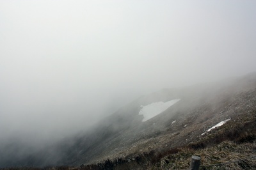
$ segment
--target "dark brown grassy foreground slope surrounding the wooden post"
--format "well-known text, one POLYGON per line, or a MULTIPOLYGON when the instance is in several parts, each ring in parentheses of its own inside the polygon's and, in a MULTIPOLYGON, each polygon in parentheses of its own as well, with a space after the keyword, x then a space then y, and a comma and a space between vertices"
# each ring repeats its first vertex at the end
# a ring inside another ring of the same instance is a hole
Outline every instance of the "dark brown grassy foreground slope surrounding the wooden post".
MULTIPOLYGON (((83 168, 61 166, 44 169, 188 169, 192 155, 200 155, 201 165, 205 166, 252 157, 255 153, 256 109, 253 109, 237 114, 232 121, 184 146, 140 153, 130 159, 105 160, 83 168)), ((8 168, 10 169, 38 168, 8 168)), ((256 169, 256 158, 200 169, 256 169)))

